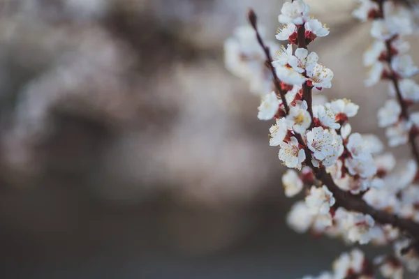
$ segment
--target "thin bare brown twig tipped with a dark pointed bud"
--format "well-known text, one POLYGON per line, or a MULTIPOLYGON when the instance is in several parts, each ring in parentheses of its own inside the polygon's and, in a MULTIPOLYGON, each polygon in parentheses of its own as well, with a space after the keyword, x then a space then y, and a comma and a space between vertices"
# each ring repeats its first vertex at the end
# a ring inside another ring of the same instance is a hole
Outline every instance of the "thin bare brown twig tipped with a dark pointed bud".
POLYGON ((281 82, 279 81, 279 78, 277 76, 277 72, 275 71, 274 66, 272 66, 272 56, 270 55, 270 49, 269 47, 265 45, 265 43, 263 43, 263 39, 260 36, 260 33, 258 31, 258 17, 256 17, 256 13, 254 12, 254 10, 252 9, 249 10, 249 12, 247 13, 247 18, 249 19, 251 26, 256 32, 256 38, 258 39, 259 45, 263 48, 263 52, 265 52, 266 63, 267 63, 268 68, 270 68, 271 70, 275 89, 277 91, 277 94, 279 93, 279 96, 281 96, 281 100, 284 105, 285 112, 288 114, 290 108, 288 107, 288 103, 286 103, 286 98, 285 98, 286 91, 281 89, 281 82))

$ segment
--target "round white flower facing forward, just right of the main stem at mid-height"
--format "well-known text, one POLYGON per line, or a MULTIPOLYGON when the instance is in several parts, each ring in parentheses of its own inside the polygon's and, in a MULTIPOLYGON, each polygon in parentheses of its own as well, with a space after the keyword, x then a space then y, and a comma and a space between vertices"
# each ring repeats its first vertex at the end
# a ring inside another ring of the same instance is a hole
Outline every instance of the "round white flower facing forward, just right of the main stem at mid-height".
POLYGON ((324 160, 326 156, 332 155, 336 147, 332 134, 321 127, 316 127, 307 133, 307 146, 318 160, 324 160))

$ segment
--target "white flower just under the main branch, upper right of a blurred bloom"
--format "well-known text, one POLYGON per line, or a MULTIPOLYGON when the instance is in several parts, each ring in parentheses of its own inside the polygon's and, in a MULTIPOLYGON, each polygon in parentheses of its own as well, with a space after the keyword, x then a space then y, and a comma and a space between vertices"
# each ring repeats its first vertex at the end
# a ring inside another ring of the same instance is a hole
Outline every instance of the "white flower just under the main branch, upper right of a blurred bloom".
POLYGON ((335 204, 336 200, 328 187, 323 185, 321 188, 311 186, 310 193, 306 197, 305 202, 311 214, 318 215, 329 213, 330 206, 335 204))

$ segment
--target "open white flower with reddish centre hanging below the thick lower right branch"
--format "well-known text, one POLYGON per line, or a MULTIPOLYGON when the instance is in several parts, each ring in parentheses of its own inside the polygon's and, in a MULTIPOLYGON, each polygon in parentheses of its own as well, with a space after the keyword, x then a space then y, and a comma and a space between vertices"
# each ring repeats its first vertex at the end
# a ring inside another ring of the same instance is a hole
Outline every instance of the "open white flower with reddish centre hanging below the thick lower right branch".
POLYGON ((367 244, 373 237, 374 231, 374 219, 369 215, 362 213, 350 212, 345 220, 346 236, 348 240, 357 242, 360 244, 367 244))

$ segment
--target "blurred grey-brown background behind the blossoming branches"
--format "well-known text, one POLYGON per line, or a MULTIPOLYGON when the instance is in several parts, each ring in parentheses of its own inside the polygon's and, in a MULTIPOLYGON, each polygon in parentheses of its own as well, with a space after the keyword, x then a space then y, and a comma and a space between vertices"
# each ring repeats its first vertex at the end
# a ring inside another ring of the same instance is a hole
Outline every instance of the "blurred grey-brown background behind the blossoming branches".
MULTIPOLYGON (((355 1, 307 0, 328 98, 378 133, 355 1)), ((1 278, 300 278, 348 250, 286 226, 284 167, 223 41, 278 0, 0 0, 1 278)), ((412 38, 417 40, 417 38, 412 38)), ((415 42, 413 42, 415 43, 415 42)), ((418 55, 414 57, 419 61, 418 55)), ((395 150, 406 156, 404 147, 395 150)), ((370 252, 376 253, 376 250, 370 252)))

